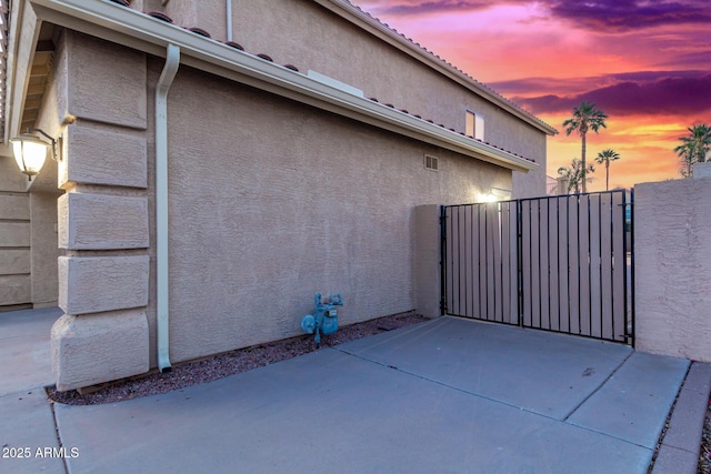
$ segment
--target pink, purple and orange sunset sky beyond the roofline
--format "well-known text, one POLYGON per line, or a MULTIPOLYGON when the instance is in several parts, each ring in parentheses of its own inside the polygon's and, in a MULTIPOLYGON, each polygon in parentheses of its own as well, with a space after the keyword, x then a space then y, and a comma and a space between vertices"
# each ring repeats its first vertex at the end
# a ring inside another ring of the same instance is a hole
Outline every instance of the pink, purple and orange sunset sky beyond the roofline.
POLYGON ((351 1, 558 129, 551 177, 580 158, 562 122, 583 100, 610 115, 587 153, 620 153, 610 189, 680 178, 679 137, 711 124, 709 0, 351 1))

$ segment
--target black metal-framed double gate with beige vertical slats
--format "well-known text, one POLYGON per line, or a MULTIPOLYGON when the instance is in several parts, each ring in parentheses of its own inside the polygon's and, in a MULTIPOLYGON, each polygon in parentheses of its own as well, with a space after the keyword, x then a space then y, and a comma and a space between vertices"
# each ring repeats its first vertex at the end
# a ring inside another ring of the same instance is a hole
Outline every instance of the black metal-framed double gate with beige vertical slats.
POLYGON ((631 215, 623 190, 442 206, 443 312, 633 343, 631 215))

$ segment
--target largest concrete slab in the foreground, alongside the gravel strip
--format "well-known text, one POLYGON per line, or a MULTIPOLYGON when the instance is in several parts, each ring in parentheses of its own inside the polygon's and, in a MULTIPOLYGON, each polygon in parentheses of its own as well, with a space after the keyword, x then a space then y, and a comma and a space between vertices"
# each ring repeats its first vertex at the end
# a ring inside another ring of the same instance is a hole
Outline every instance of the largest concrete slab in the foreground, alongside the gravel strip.
POLYGON ((607 474, 644 473, 651 458, 333 349, 166 395, 57 406, 57 420, 80 452, 67 460, 72 473, 607 474))

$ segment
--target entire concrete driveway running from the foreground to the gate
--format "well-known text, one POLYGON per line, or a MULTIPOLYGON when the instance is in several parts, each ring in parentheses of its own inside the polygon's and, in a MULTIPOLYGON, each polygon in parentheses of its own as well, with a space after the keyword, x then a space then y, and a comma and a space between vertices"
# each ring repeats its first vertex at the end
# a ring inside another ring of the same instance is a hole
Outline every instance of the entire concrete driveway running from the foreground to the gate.
POLYGON ((121 403, 4 393, 0 444, 33 455, 0 472, 645 473, 689 365, 441 317, 121 403))

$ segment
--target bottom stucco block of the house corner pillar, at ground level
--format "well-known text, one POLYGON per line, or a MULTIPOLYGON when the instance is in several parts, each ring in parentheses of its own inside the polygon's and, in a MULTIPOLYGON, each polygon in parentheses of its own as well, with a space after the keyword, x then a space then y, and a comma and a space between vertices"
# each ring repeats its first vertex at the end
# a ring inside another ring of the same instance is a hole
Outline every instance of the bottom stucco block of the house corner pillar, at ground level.
POLYGON ((57 389, 72 390, 149 370, 143 311, 74 316, 52 326, 52 371, 57 389))

